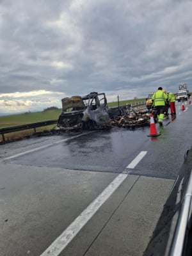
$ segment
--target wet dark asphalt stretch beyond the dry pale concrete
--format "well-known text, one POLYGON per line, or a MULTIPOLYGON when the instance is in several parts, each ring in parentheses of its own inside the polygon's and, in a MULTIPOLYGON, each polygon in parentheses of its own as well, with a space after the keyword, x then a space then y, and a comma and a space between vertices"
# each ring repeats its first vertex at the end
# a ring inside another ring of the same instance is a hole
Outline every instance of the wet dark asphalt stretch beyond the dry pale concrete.
POLYGON ((110 131, 84 134, 72 140, 69 138, 44 150, 17 157, 9 163, 70 170, 128 172, 175 179, 184 154, 192 143, 191 120, 188 112, 179 109, 180 106, 181 102, 177 104, 176 118, 169 115, 163 127, 156 124, 157 132, 161 134, 157 138, 147 136, 150 134, 149 127, 134 130, 114 127, 110 131), (132 159, 143 150, 147 151, 143 161, 134 170, 126 170, 132 159))

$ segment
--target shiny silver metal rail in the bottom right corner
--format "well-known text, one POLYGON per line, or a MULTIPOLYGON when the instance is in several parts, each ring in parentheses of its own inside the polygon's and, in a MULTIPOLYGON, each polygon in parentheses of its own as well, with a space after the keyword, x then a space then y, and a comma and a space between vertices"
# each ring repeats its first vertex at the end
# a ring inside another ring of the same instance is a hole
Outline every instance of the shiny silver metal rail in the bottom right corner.
POLYGON ((179 221, 175 231, 175 236, 173 240, 173 246, 170 256, 182 256, 184 251, 184 242, 186 238, 186 231, 191 227, 191 214, 192 214, 192 170, 189 177, 188 187, 184 195, 182 202, 181 211, 179 214, 179 221))

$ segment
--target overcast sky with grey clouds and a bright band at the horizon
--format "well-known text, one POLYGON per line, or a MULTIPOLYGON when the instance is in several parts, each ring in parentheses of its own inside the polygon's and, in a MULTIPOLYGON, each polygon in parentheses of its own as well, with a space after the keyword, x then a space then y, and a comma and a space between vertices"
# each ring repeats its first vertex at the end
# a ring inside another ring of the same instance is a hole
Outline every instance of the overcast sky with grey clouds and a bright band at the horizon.
POLYGON ((192 1, 0 0, 0 113, 192 91, 192 1))

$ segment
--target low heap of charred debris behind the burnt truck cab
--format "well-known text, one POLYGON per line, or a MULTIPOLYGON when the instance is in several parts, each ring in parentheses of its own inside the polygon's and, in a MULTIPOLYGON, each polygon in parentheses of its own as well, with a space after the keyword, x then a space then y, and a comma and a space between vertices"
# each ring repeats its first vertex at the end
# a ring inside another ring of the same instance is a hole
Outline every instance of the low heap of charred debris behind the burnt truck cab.
POLYGON ((150 125, 150 114, 147 112, 131 111, 122 116, 111 117, 111 126, 136 128, 150 125))

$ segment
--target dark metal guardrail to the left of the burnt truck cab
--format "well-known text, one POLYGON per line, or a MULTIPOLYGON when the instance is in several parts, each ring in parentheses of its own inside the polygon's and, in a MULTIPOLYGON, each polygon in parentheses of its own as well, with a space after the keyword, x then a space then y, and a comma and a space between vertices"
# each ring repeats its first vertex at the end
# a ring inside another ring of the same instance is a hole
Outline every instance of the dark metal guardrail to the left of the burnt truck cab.
POLYGON ((57 124, 58 120, 48 120, 48 121, 43 121, 43 122, 36 122, 32 124, 22 124, 22 125, 17 125, 17 126, 11 126, 11 127, 4 127, 0 129, 0 134, 3 138, 3 142, 5 141, 4 134, 10 133, 10 132, 18 132, 18 131, 24 131, 28 129, 34 129, 36 132, 36 128, 42 127, 42 126, 47 126, 47 125, 52 125, 52 124, 57 124))

